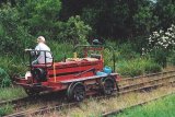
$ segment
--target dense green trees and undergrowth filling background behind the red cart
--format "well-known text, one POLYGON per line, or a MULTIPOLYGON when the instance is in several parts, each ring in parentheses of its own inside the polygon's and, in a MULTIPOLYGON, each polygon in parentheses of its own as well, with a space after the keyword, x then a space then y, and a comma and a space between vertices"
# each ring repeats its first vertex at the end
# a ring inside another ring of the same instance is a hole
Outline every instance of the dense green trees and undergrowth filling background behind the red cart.
MULTIPOLYGON (((158 72, 160 66, 166 66, 171 51, 142 57, 142 49, 153 31, 166 31, 174 23, 174 8, 172 0, 0 1, 0 68, 10 77, 25 73, 23 50, 34 48, 43 35, 57 61, 65 55, 72 57, 77 44, 98 38, 115 48, 119 73, 133 77, 158 72)), ((112 52, 104 52, 105 65, 113 66, 112 52)))

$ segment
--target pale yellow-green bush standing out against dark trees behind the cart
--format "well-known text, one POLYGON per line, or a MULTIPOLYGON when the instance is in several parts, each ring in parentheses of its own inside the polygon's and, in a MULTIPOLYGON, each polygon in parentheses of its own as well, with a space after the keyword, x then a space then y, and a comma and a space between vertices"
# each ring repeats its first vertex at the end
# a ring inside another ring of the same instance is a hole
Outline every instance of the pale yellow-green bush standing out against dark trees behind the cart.
POLYGON ((81 21, 80 16, 71 16, 67 23, 63 24, 62 32, 59 33, 57 38, 62 42, 71 42, 75 44, 86 44, 88 36, 92 28, 81 21), (65 38, 67 38, 65 40, 65 38))

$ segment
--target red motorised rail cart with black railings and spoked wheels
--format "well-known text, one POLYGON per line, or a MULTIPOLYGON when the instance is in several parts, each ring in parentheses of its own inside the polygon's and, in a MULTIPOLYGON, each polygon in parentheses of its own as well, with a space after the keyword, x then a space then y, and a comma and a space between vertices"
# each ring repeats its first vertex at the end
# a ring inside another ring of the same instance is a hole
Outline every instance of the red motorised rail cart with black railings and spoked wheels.
MULTIPOLYGON (((103 93, 113 94, 118 90, 118 73, 114 69, 104 67, 103 50, 106 46, 91 45, 77 46, 82 48, 83 57, 68 58, 60 62, 32 65, 32 58, 36 50, 27 50, 30 57, 28 75, 15 78, 15 83, 24 87, 28 95, 35 95, 44 91, 66 91, 69 100, 82 101, 85 95, 103 93)), ((113 49, 113 48, 110 48, 113 49)), ((37 51, 48 52, 48 51, 37 51)), ((52 57, 54 59, 54 57, 52 57)), ((45 59, 46 60, 46 59, 45 59)))

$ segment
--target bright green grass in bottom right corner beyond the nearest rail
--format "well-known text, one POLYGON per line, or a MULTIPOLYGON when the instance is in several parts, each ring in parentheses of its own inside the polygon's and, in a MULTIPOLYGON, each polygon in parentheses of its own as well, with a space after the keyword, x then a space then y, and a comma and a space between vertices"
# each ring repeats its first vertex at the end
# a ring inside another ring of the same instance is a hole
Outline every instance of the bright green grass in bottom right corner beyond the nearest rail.
POLYGON ((165 98, 151 102, 144 106, 127 109, 114 117, 174 117, 175 94, 165 98))

